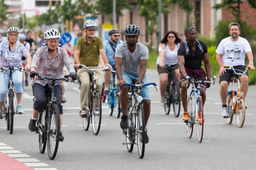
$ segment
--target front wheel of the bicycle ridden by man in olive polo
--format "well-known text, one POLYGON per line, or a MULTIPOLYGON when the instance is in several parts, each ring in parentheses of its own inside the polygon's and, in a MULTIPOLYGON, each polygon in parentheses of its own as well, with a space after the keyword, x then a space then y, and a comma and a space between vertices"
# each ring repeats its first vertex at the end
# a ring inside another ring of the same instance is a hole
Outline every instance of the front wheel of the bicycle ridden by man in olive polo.
POLYGON ((95 135, 100 131, 101 123, 101 99, 100 93, 97 91, 93 97, 92 105, 92 130, 95 135))

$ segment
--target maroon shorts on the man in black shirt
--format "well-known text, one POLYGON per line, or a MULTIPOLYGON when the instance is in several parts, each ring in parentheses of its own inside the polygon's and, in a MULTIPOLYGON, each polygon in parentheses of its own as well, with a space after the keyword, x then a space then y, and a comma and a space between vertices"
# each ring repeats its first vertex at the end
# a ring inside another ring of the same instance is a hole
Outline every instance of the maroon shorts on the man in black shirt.
MULTIPOLYGON (((205 72, 202 68, 200 68, 200 69, 185 68, 185 70, 186 70, 186 73, 188 74, 188 76, 190 76, 190 77, 197 78, 197 79, 200 79, 200 80, 206 80, 205 79, 206 74, 205 74, 205 72)), ((184 76, 182 74, 181 74, 180 78, 181 78, 180 82, 185 81, 184 76)), ((196 86, 196 84, 195 84, 195 86, 196 86)), ((200 84, 200 86, 202 86, 206 89, 206 83, 202 83, 202 84, 200 84)))

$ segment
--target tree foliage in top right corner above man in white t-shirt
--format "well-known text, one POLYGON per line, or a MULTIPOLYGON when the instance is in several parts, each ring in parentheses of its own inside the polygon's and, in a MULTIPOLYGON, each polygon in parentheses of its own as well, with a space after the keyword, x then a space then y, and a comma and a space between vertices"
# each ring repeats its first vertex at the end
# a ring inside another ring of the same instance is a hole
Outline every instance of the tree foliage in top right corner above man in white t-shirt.
MULTIPOLYGON (((247 0, 249 5, 252 8, 256 8, 256 1, 255 0, 247 0)), ((213 6, 215 9, 227 9, 229 10, 232 15, 235 17, 238 23, 241 22, 241 13, 240 7, 243 4, 242 0, 223 0, 220 4, 216 4, 213 6)))

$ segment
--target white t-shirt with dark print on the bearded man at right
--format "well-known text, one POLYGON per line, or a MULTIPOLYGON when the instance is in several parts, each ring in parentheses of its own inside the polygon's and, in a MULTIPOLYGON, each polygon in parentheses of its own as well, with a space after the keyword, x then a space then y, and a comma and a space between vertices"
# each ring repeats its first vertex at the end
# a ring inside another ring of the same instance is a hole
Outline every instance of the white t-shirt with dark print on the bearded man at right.
POLYGON ((223 65, 245 66, 245 53, 252 51, 249 42, 242 37, 237 41, 231 41, 230 37, 221 40, 216 53, 222 54, 223 65))

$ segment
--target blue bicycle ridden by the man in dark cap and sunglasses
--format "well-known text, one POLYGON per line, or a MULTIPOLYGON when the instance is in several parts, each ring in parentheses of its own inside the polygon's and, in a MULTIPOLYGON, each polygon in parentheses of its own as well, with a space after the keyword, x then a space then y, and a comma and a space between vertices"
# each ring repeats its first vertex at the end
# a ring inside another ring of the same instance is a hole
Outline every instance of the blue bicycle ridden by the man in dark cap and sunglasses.
POLYGON ((120 117, 121 113, 121 107, 120 107, 120 96, 118 95, 118 85, 117 85, 117 75, 116 71, 112 71, 112 78, 109 83, 109 93, 107 95, 107 103, 108 103, 108 109, 109 109, 109 115, 112 116, 113 111, 115 112, 115 115, 117 118, 120 117))

